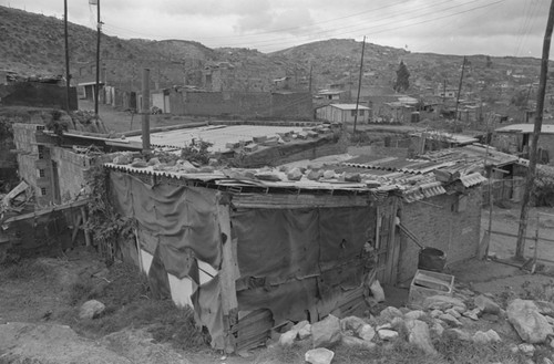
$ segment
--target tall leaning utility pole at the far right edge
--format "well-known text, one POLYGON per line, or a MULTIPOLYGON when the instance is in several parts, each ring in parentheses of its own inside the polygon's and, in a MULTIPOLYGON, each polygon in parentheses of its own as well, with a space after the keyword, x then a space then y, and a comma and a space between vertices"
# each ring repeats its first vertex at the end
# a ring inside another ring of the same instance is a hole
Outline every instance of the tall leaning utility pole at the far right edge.
POLYGON ((543 56, 541 60, 541 76, 538 80, 538 91, 536 92, 536 116, 535 127, 533 128, 533 139, 530 146, 529 171, 525 176, 525 190, 523 193, 521 215, 520 215, 520 229, 517 231, 517 242, 515 246, 515 259, 523 260, 525 251, 525 236, 527 233, 527 215, 529 215, 529 200, 531 199, 531 190, 536 173, 536 152, 538 144, 538 136, 543 125, 543 108, 544 96, 546 93, 546 79, 548 74, 548 58, 551 52, 552 29, 554 28, 554 0, 551 1, 551 9, 548 12, 548 20, 546 22, 546 31, 544 33, 543 42, 543 56))

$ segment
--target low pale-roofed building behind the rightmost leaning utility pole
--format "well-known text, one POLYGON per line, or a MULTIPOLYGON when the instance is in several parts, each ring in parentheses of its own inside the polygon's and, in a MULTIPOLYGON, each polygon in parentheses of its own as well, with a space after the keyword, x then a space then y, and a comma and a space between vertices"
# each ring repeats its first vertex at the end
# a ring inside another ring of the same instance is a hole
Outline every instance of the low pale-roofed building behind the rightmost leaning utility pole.
MULTIPOLYGON (((513 124, 495 131, 493 144, 499 149, 529 158, 533 124, 513 124)), ((544 124, 538 137, 538 163, 554 165, 554 125, 544 124)))

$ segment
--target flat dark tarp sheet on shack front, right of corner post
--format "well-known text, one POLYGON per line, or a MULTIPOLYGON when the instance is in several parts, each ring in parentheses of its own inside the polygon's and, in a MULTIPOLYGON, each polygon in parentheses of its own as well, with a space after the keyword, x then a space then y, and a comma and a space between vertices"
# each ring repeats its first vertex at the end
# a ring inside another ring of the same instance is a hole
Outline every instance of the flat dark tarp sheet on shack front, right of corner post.
POLYGON ((232 216, 238 309, 269 309, 276 324, 318 320, 359 287, 375 240, 375 207, 245 209, 232 216))

